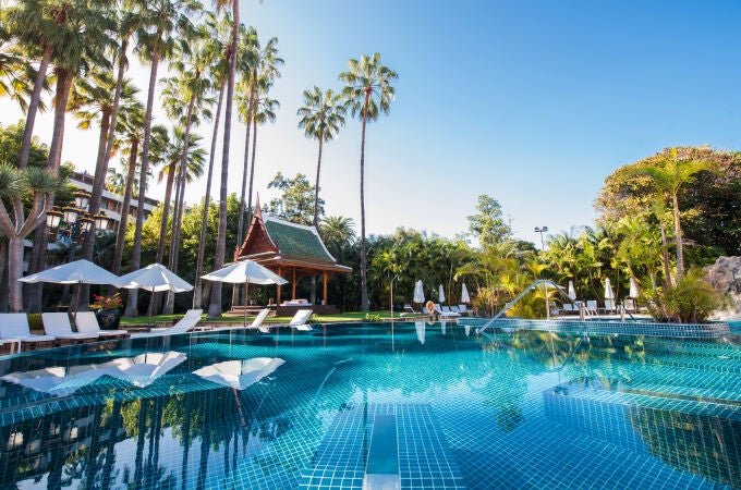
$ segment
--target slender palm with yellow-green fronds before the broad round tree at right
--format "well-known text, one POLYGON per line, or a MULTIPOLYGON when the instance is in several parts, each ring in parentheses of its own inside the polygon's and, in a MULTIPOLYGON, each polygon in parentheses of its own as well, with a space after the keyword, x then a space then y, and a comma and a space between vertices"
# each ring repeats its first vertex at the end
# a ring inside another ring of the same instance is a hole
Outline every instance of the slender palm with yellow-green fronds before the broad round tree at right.
POLYGON ((697 173, 714 171, 709 160, 680 159, 677 148, 671 148, 669 156, 658 156, 648 167, 639 168, 631 173, 647 176, 658 195, 671 198, 675 215, 675 240, 677 241, 677 283, 682 280, 684 269, 684 252, 682 244, 682 224, 679 211, 679 191, 684 184, 695 181, 697 173))

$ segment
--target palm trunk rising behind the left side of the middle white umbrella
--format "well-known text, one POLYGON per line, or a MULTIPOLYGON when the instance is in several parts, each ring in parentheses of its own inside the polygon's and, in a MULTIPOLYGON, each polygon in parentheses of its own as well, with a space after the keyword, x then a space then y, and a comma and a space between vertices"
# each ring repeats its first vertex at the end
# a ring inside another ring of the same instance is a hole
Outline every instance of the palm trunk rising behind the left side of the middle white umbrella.
MULTIPOLYGON (((142 145, 142 170, 139 172, 138 210, 136 212, 136 231, 134 232, 134 249, 131 254, 131 270, 139 268, 142 262, 142 228, 144 226, 144 205, 147 189, 147 171, 149 170, 149 145, 151 143, 151 110, 155 103, 155 86, 157 85, 157 68, 159 65, 159 52, 155 51, 151 57, 151 71, 149 73, 149 93, 147 94, 147 112, 144 120, 144 143, 142 145)), ((129 291, 129 301, 124 316, 133 317, 138 314, 137 291, 129 291)))

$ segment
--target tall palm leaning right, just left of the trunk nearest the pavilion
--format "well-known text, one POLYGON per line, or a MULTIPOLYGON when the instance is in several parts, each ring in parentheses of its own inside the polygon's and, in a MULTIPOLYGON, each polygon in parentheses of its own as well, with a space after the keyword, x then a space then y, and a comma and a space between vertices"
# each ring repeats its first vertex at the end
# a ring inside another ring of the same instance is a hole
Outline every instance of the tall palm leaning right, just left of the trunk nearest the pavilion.
POLYGON ((201 235, 198 238, 198 253, 195 266, 195 287, 193 290, 193 307, 203 308, 203 281, 201 275, 204 271, 204 250, 206 248, 206 234, 208 232, 208 209, 211 203, 211 180, 214 175, 214 159, 216 157, 216 143, 219 134, 219 120, 221 117, 221 105, 223 101, 223 91, 227 85, 229 60, 232 51, 232 36, 231 36, 231 16, 226 13, 223 17, 218 19, 215 14, 209 13, 206 25, 210 32, 210 49, 216 54, 214 63, 209 69, 209 75, 215 86, 219 87, 218 102, 216 106, 216 117, 214 118, 214 134, 211 135, 211 148, 208 157, 208 175, 206 177, 206 195, 204 196, 204 206, 201 216, 201 235))

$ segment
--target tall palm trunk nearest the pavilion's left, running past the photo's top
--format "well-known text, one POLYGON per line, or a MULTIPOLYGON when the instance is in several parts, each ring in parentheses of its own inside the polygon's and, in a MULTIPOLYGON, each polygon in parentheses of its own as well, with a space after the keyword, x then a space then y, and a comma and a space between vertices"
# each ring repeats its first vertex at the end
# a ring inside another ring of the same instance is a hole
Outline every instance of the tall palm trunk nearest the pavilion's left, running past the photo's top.
MULTIPOLYGON (((239 46, 239 25, 240 25, 240 2, 232 2, 233 25, 232 25, 232 52, 229 58, 229 77, 227 81, 227 108, 224 110, 223 126, 223 151, 221 154, 221 188, 219 192, 219 233, 216 240, 216 253, 214 257, 214 268, 220 269, 223 266, 224 254, 227 252, 227 185, 229 184, 229 143, 231 136, 231 112, 234 101, 234 74, 236 72, 236 48, 239 46)), ((221 316, 221 283, 216 282, 211 287, 211 298, 208 305, 208 316, 221 316)))

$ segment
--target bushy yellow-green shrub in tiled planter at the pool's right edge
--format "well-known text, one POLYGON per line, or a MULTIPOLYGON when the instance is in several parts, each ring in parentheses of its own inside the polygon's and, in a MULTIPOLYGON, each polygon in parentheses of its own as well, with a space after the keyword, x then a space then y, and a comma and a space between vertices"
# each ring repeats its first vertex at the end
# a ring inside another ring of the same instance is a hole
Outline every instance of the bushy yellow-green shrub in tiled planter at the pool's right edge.
POLYGON ((692 269, 679 284, 644 290, 646 297, 642 303, 656 321, 703 323, 722 298, 701 274, 700 269, 692 269))

